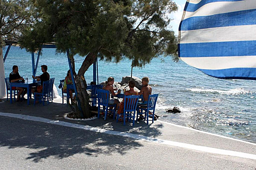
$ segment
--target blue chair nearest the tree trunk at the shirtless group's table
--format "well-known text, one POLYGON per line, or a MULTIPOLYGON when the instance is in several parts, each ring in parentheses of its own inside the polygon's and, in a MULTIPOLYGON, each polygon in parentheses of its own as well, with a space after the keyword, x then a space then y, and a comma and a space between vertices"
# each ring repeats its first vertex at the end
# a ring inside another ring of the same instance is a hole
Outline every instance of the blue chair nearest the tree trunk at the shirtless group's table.
POLYGON ((103 89, 97 89, 97 99, 98 99, 98 119, 99 119, 99 113, 104 112, 105 113, 104 120, 106 120, 108 111, 113 112, 113 119, 115 119, 116 104, 108 104, 109 92, 103 89), (113 107, 113 108, 110 109, 110 107, 113 107))

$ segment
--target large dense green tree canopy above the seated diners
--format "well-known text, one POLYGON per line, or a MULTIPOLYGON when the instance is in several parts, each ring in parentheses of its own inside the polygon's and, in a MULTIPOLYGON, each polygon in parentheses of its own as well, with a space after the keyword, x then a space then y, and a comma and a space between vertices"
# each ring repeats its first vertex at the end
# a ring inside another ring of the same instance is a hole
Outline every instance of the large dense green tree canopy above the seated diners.
POLYGON ((57 51, 119 62, 134 59, 143 67, 154 57, 175 54, 177 38, 168 30, 167 14, 177 10, 171 0, 33 0, 40 14, 23 29, 22 48, 35 51, 56 42, 57 51))

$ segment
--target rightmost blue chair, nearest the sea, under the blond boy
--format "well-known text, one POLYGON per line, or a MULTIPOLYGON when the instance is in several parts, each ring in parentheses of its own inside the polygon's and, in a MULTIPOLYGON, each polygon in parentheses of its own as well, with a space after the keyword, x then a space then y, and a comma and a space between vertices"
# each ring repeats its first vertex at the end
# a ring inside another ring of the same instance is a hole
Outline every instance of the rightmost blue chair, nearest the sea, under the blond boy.
POLYGON ((155 111, 155 107, 157 104, 157 97, 158 97, 158 94, 151 94, 148 96, 148 104, 147 105, 138 105, 136 120, 138 120, 139 115, 145 114, 144 120, 147 119, 147 124, 148 124, 148 112, 152 111, 153 112, 152 123, 154 123, 154 111, 155 111))

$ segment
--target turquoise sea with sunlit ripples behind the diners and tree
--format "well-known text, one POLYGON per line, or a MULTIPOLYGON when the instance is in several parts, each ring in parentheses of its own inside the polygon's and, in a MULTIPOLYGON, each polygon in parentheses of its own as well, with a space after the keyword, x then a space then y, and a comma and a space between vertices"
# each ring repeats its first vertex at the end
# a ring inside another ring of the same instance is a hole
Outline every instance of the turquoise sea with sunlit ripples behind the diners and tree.
MULTIPOLYGON (((56 54, 55 49, 49 48, 42 53, 37 75, 41 74, 40 65, 47 65, 58 87, 59 80, 64 79, 69 69, 67 55, 56 54)), ((256 143, 256 81, 216 79, 182 61, 173 62, 171 57, 162 59, 165 61, 153 59, 142 69, 133 68, 133 76, 148 76, 153 93, 159 94, 156 113, 160 120, 256 143), (180 108, 181 113, 166 112, 174 106, 180 108)), ((76 56, 75 60, 78 70, 83 57, 76 56)), ((10 49, 4 63, 6 77, 12 65, 19 66, 21 76, 28 73, 29 78, 32 77, 31 54, 26 50, 10 49)), ((98 68, 99 82, 110 76, 120 82, 123 76, 131 75, 131 61, 127 59, 117 64, 99 61, 98 68)), ((92 74, 91 66, 85 73, 87 82, 92 81, 92 74)))

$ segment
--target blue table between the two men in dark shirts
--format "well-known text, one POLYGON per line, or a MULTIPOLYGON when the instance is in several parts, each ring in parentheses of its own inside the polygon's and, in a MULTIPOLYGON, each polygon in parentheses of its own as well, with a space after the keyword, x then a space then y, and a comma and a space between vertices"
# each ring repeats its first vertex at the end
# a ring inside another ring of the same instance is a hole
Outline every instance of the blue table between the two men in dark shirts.
MULTIPOLYGON (((20 87, 20 88, 27 88, 27 104, 29 105, 29 98, 31 99, 31 87, 33 86, 38 86, 38 85, 41 85, 41 81, 39 82, 32 82, 32 81, 29 81, 29 82, 10 82, 10 89, 12 89, 12 87, 20 87)), ((10 94, 10 102, 12 103, 12 90, 10 91, 11 94, 10 94)))

